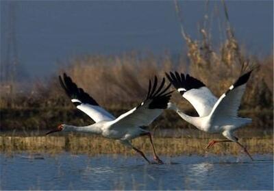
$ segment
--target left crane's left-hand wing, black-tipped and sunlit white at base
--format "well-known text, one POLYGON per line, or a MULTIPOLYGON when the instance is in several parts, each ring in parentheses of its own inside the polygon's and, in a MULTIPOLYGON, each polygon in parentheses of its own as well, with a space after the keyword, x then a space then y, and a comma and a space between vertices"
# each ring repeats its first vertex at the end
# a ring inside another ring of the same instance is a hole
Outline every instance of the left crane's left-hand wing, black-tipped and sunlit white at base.
POLYGON ((64 88, 66 94, 71 98, 73 104, 77 109, 86 113, 92 120, 99 122, 101 120, 114 120, 114 116, 100 107, 99 104, 90 97, 89 94, 84 92, 82 88, 78 88, 77 85, 71 80, 71 77, 66 73, 62 77, 59 76, 60 84, 64 88))

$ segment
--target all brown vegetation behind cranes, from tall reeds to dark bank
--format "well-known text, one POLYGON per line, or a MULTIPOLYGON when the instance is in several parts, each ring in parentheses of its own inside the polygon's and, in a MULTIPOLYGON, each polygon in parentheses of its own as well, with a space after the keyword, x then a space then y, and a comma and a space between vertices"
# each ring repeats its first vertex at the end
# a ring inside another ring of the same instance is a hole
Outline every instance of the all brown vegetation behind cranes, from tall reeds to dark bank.
MULTIPOLYGON (((176 4, 177 13, 180 13, 179 4, 176 4)), ((16 94, 11 102, 9 94, 1 94, 0 127, 28 128, 36 126, 47 128, 56 125, 57 118, 60 122, 69 122, 69 116, 83 116, 75 112, 75 107, 66 97, 60 87, 58 75, 68 73, 73 80, 97 102, 116 116, 131 109, 144 99, 147 92, 148 81, 154 75, 164 77, 165 72, 179 71, 190 73, 201 79, 217 97, 239 77, 240 73, 255 68, 251 79, 247 84, 247 90, 242 99, 240 109, 247 112, 252 111, 251 116, 256 114, 268 114, 266 120, 257 121, 264 125, 272 124, 273 118, 273 55, 262 60, 247 57, 242 53, 240 44, 235 37, 234 31, 229 23, 227 9, 225 12, 226 34, 219 47, 214 47, 211 42, 210 25, 208 24, 208 13, 199 32, 200 40, 194 40, 184 31, 181 20, 182 34, 188 47, 186 55, 178 55, 177 58, 165 53, 153 55, 152 53, 129 52, 121 55, 86 55, 70 60, 66 64, 60 64, 58 74, 52 75, 45 81, 36 81, 31 92, 27 94, 16 94), (186 62, 186 60, 189 62, 186 62), (12 105, 12 108, 10 108, 12 105), (61 108, 61 109, 60 109, 61 108), (73 111, 72 111, 73 110, 73 111), (265 112, 266 111, 266 112, 265 112), (49 120, 46 119, 49 118, 49 120), (24 118, 25 117, 25 118, 24 118)), ((187 112, 195 114, 192 106, 182 97, 174 92, 172 101, 187 112)), ((75 121, 74 125, 82 125, 91 122, 88 118, 75 121)), ((171 120, 171 118, 165 118, 171 120)), ((266 125, 269 127, 269 125, 266 125)))

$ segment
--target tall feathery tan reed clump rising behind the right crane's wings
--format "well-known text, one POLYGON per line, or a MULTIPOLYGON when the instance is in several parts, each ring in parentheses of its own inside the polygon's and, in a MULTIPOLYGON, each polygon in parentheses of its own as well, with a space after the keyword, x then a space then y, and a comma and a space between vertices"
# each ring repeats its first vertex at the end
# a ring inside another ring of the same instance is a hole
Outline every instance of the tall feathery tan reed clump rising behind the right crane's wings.
MULTIPOLYGON (((236 81, 236 79, 254 70, 249 80, 242 105, 249 109, 273 108, 273 55, 264 60, 258 60, 254 56, 248 57, 241 49, 232 24, 229 22, 229 14, 225 1, 223 2, 223 14, 225 27, 220 28, 219 33, 225 34, 219 45, 212 42, 212 28, 208 18, 208 12, 203 17, 203 25, 199 26, 201 38, 193 39, 187 34, 180 4, 184 2, 175 1, 175 10, 179 17, 182 38, 188 47, 188 58, 190 60, 190 73, 201 79, 216 95, 221 95, 236 81)), ((207 1, 208 4, 214 3, 207 1)), ((219 9, 221 9, 219 8, 219 9)), ((211 14, 214 14, 212 12, 211 14)), ((214 15, 216 16, 216 15, 214 15)))

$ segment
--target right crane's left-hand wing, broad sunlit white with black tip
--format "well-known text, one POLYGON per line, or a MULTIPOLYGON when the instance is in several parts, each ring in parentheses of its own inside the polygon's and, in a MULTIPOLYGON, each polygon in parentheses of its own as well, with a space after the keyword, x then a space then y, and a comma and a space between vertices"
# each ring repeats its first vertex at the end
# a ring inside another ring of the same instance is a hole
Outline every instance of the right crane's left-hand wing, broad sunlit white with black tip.
POLYGON ((212 111, 217 98, 199 79, 195 79, 190 75, 184 75, 175 72, 167 74, 166 77, 171 84, 182 94, 182 96, 191 103, 199 116, 208 116, 212 111))

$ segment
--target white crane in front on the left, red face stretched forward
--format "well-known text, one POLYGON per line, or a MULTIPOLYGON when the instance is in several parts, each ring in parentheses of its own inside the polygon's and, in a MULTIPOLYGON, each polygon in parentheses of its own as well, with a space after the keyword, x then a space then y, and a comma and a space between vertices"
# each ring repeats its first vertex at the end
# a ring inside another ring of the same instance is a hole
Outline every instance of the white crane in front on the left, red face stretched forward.
POLYGON ((73 125, 62 124, 59 125, 57 129, 49 131, 47 134, 57 131, 75 131, 98 134, 105 138, 117 140, 125 146, 134 149, 137 153, 140 153, 147 162, 149 162, 149 160, 145 154, 134 147, 130 140, 140 136, 149 136, 153 149, 153 159, 158 162, 158 164, 163 164, 162 160, 160 160, 158 155, 155 153, 151 133, 142 129, 142 127, 152 123, 152 121, 155 120, 164 109, 166 109, 167 103, 169 103, 171 92, 166 91, 169 89, 171 84, 164 88, 165 78, 162 79, 158 88, 158 78, 156 76, 153 85, 151 84, 151 80, 149 80, 149 91, 145 101, 118 118, 115 118, 112 114, 104 110, 103 107, 100 107, 95 99, 92 99, 92 97, 84 92, 82 88, 78 88, 71 80, 71 77, 64 73, 63 80, 62 77, 59 78, 62 88, 64 88, 66 94, 71 98, 71 101, 77 109, 90 116, 95 123, 85 127, 75 127, 73 125))

